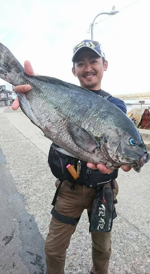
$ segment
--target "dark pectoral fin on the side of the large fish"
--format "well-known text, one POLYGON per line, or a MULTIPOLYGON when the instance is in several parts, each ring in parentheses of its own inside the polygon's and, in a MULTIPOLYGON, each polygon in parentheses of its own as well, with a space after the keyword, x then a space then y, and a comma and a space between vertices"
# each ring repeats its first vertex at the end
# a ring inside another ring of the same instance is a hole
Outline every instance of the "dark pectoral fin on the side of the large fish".
POLYGON ((86 152, 92 153, 96 148, 100 147, 97 140, 81 126, 68 122, 67 129, 75 144, 86 152))

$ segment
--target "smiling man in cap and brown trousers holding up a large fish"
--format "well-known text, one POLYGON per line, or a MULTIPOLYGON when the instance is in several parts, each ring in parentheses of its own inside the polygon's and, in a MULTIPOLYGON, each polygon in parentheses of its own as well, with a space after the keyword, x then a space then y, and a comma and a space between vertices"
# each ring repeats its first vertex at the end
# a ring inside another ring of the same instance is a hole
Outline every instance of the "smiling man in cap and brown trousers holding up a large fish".
MULTIPOLYGON (((98 41, 84 40, 76 45, 73 49, 72 62, 72 72, 74 76, 78 77, 82 87, 99 96, 103 96, 126 113, 126 106, 123 101, 114 98, 111 94, 101 89, 101 80, 104 71, 107 70, 108 62, 105 60, 105 55, 98 41)), ((24 63, 24 67, 26 74, 34 74, 28 61, 24 63)), ((23 93, 30 89, 29 85, 16 86, 14 88, 16 92, 23 93)), ((12 108, 16 110, 18 106, 19 102, 16 98, 12 108)), ((55 144, 53 145, 55 146, 55 144)), ((55 176, 59 180, 55 183, 57 193, 52 203, 55 207, 51 211, 52 218, 49 225, 49 234, 45 242, 46 274, 64 274, 66 249, 84 209, 87 209, 88 212, 92 238, 93 266, 90 273, 107 274, 111 256, 110 231, 112 220, 107 216, 106 210, 112 210, 113 218, 116 217, 114 205, 117 203, 118 184, 115 178, 118 175, 118 170, 109 169, 102 164, 95 166, 92 163, 85 163, 80 161, 80 159, 71 157, 69 158, 70 162, 67 162, 67 156, 59 153, 59 158, 56 157, 55 150, 52 148, 49 152, 49 159, 51 170, 52 172, 55 170, 55 176), (51 165, 52 162, 53 165, 51 165), (72 176, 70 177, 66 169, 66 163, 69 164, 71 162, 75 168, 74 172, 78 175, 76 181, 74 181, 72 176), (87 166, 89 167, 88 169, 87 166), (60 175, 61 169, 64 171, 62 172, 62 178, 60 175), (105 190, 107 190, 106 196, 105 190), (100 200, 97 200, 97 205, 94 204, 94 207, 92 207, 95 197, 100 200), (98 223, 95 221, 94 212, 96 211, 93 211, 93 208, 98 212, 97 216, 100 216, 98 223), (105 228, 106 223, 108 223, 107 228, 105 228)), ((121 168, 124 171, 131 169, 126 165, 122 165, 121 168)))

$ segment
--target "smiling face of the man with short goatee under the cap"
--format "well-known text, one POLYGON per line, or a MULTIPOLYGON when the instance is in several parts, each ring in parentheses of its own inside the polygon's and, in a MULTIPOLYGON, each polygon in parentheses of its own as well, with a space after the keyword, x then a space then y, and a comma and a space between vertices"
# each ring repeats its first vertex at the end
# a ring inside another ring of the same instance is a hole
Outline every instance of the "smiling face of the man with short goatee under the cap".
POLYGON ((80 53, 72 68, 74 76, 77 76, 80 85, 87 89, 99 90, 103 72, 107 70, 107 61, 103 64, 102 57, 94 51, 84 51, 80 53))

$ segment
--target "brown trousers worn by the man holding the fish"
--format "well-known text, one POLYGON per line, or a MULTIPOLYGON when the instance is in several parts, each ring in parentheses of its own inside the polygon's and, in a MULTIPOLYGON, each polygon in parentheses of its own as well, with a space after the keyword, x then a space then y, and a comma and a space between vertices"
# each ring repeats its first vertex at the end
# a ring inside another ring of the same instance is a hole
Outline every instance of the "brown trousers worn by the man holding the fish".
MULTIPOLYGON (((58 187, 60 181, 56 181, 58 187)), ((111 183, 105 186, 110 186, 111 183)), ((114 180, 114 200, 118 194, 118 184, 114 180)), ((74 224, 63 223, 54 216, 49 225, 49 234, 45 242, 45 254, 47 271, 46 274, 64 274, 66 249, 84 209, 91 211, 92 201, 95 197, 95 189, 87 188, 85 185, 75 184, 74 191, 70 190, 70 182, 62 182, 59 195, 56 200, 55 210, 61 216, 68 217, 68 221, 74 224)), ((53 211, 53 210, 52 210, 53 211)), ((53 211, 53 215, 56 213, 53 211)), ((92 239, 92 260, 91 274, 107 274, 109 258, 111 256, 111 232, 91 232, 92 239)))

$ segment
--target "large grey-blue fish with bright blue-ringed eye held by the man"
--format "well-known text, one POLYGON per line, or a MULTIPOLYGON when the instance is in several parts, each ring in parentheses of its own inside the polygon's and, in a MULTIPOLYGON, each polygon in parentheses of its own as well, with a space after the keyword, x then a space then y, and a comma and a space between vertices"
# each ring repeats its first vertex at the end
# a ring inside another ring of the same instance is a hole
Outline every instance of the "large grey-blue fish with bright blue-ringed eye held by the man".
POLYGON ((30 84, 18 93, 20 108, 60 152, 108 168, 127 164, 137 172, 150 159, 134 123, 114 104, 85 88, 47 76, 28 76, 0 43, 0 78, 30 84))

